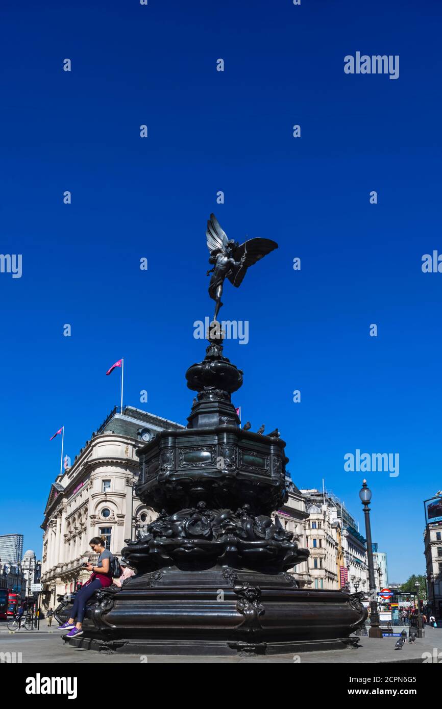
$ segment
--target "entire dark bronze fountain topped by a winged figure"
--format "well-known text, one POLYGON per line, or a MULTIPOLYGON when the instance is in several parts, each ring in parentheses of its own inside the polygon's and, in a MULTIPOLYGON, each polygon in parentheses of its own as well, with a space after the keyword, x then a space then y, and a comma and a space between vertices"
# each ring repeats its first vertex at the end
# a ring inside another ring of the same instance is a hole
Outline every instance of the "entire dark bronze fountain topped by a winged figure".
MULTIPOLYGON (((211 216, 206 233, 221 307, 226 277, 277 248, 270 240, 229 242, 211 216)), ((84 635, 72 644, 136 654, 287 653, 343 647, 366 618, 358 594, 300 589, 287 573, 300 549, 272 510, 287 501, 285 443, 239 428, 231 394, 243 372, 223 356, 212 323, 202 362, 186 373, 197 398, 183 430, 165 430, 138 451, 136 494, 158 511, 123 558, 138 571, 97 593, 84 635)), ((59 614, 65 618, 69 607, 59 614)))

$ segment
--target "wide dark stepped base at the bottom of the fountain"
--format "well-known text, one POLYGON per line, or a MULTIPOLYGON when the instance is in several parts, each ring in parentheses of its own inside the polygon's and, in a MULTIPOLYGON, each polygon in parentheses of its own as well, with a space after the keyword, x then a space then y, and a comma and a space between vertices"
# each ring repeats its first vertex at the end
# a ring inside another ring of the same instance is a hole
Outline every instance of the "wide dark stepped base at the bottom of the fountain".
MULTIPOLYGON (((167 568, 99 591, 70 644, 131 654, 284 654, 349 647, 358 594, 299 589, 290 574, 167 568)), ((69 617, 69 606, 57 620, 69 617)))

